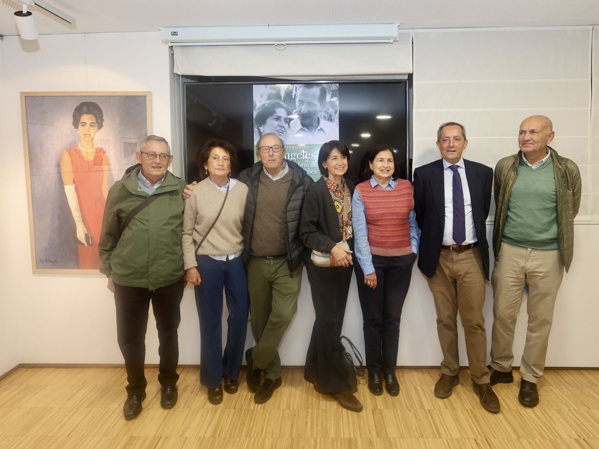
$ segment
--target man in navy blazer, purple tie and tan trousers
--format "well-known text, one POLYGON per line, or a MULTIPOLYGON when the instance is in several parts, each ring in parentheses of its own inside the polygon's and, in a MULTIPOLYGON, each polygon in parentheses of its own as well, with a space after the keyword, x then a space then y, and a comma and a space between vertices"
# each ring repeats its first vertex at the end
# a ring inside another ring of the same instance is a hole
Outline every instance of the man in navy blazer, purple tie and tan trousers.
POLYGON ((489 411, 500 411, 486 367, 483 304, 489 279, 485 220, 491 204, 493 170, 462 158, 464 126, 443 123, 437 131, 441 159, 414 170, 414 208, 420 227, 418 268, 426 275, 437 310, 443 350, 435 396, 448 398, 459 383, 458 310, 474 392, 489 411))

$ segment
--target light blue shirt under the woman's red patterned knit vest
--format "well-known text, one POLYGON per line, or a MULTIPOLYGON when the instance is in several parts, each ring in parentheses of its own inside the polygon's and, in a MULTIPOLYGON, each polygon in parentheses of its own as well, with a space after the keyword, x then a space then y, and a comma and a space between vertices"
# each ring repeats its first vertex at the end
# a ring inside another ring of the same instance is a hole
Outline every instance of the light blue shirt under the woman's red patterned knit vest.
MULTIPOLYGON (((397 179, 391 179, 385 190, 395 188, 397 179)), ((377 185, 382 187, 374 179, 374 175, 370 178, 370 185, 374 188, 377 185)), ((410 210, 408 214, 408 222, 410 224, 410 246, 412 252, 418 253, 418 245, 420 243, 420 228, 416 222, 416 212, 410 210)), ((368 224, 366 222, 366 210, 364 202, 358 189, 353 191, 352 198, 352 226, 353 226, 353 242, 355 243, 356 257, 364 274, 374 273, 373 256, 370 253, 370 243, 368 243, 368 224)))

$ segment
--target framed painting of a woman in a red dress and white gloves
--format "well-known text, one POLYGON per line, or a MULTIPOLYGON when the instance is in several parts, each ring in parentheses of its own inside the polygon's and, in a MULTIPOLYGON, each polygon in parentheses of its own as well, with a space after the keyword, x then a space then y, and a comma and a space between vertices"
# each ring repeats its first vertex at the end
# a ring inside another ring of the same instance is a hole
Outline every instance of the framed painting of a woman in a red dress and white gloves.
POLYGON ((152 134, 150 92, 22 92, 34 273, 99 273, 108 189, 152 134))

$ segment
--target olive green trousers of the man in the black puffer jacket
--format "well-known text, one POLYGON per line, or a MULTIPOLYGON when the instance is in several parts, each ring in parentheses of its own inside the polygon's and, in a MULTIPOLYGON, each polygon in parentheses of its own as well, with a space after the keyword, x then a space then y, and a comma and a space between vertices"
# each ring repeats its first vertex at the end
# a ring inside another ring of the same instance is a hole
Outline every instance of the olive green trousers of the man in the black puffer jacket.
POLYGON ((264 369, 264 378, 281 377, 279 345, 298 310, 299 287, 304 266, 291 273, 285 256, 250 256, 246 264, 250 296, 254 365, 264 369))

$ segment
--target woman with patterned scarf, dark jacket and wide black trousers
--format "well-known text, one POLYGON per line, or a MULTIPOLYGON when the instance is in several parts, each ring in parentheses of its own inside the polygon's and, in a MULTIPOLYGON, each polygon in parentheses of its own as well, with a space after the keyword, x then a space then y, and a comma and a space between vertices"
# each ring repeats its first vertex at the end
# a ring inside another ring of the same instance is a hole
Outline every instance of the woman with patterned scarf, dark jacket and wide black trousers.
POLYGON ((308 248, 306 271, 316 312, 304 378, 341 407, 362 411, 362 404, 350 391, 339 340, 353 265, 353 184, 343 178, 348 162, 349 149, 343 142, 331 140, 320 147, 322 178, 308 190, 302 209, 299 237, 308 248), (313 252, 328 257, 334 266, 315 265, 313 252))

